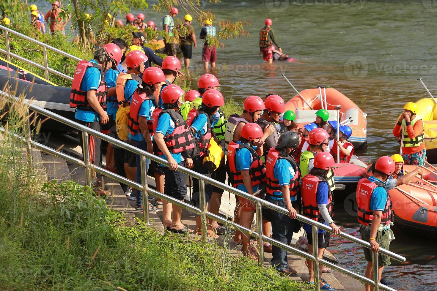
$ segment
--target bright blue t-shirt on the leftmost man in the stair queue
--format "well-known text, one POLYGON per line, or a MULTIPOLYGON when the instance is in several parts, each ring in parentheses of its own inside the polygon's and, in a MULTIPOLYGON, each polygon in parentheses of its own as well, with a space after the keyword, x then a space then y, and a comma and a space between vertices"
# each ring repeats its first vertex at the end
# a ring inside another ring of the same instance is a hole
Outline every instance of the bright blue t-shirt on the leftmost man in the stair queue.
MULTIPOLYGON (((90 62, 96 63, 94 60, 90 60, 90 62)), ((85 75, 82 79, 82 84, 80 84, 80 90, 88 92, 90 90, 96 90, 99 88, 102 76, 100 74, 100 70, 98 68, 89 67, 87 71, 85 71, 85 75)), ((76 114, 74 117, 77 120, 82 120, 85 122, 94 122, 94 119, 97 117, 97 121, 99 121, 99 113, 94 110, 85 111, 77 108, 76 114)))

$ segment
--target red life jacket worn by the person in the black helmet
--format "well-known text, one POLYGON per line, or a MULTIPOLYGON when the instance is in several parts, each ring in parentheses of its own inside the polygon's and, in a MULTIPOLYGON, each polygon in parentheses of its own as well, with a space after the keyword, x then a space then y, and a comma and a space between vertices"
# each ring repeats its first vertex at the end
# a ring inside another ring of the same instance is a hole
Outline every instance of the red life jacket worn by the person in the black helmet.
POLYGON ((279 159, 287 160, 293 167, 293 170, 295 171, 295 175, 290 179, 290 184, 289 184, 290 197, 294 197, 298 195, 298 193, 300 192, 299 179, 301 175, 300 175, 299 167, 296 164, 295 159, 293 157, 290 156, 280 157, 279 151, 277 151, 274 147, 270 149, 266 158, 267 193, 269 193, 273 197, 282 198, 282 195, 274 194, 274 192, 277 191, 282 192, 281 186, 279 185, 279 181, 274 178, 274 166, 279 159))

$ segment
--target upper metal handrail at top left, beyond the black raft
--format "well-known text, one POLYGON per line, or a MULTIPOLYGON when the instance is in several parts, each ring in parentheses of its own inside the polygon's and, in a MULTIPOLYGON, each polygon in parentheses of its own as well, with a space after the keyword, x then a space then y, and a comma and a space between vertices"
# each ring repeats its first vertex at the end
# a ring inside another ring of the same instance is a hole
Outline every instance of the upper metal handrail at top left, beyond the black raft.
POLYGON ((73 81, 73 77, 70 77, 69 75, 66 75, 66 74, 64 74, 62 72, 56 71, 55 69, 52 69, 52 68, 49 67, 49 62, 48 62, 48 58, 47 58, 47 49, 49 49, 51 51, 54 51, 54 52, 56 52, 56 53, 58 53, 60 55, 66 56, 67 58, 71 58, 72 60, 74 60, 76 62, 80 62, 80 61, 82 61, 82 59, 80 59, 80 58, 78 58, 78 57, 76 57, 74 55, 70 55, 69 53, 66 53, 65 51, 61 51, 61 50, 59 50, 57 48, 54 48, 51 45, 47 45, 47 44, 45 44, 45 43, 43 43, 41 41, 37 41, 37 40, 35 40, 33 38, 30 38, 27 35, 21 34, 21 33, 17 32, 17 31, 14 31, 14 30, 12 30, 12 29, 10 29, 8 27, 5 27, 3 25, 0 25, 0 29, 4 31, 5 42, 6 42, 6 50, 4 50, 3 48, 0 48, 0 52, 3 55, 6 55, 6 58, 7 58, 8 62, 10 62, 10 57, 13 57, 13 58, 16 58, 17 60, 25 62, 25 63, 27 63, 29 65, 32 65, 35 68, 39 68, 41 70, 44 70, 44 76, 45 76, 45 79, 47 79, 47 80, 49 79, 49 73, 52 73, 52 74, 61 76, 64 79, 73 81), (28 60, 27 58, 23 58, 20 55, 14 54, 13 52, 10 52, 10 44, 9 44, 9 34, 10 33, 16 35, 19 38, 23 38, 26 41, 33 42, 35 45, 39 45, 40 47, 42 47, 42 52, 43 52, 43 57, 44 57, 44 65, 37 64, 37 63, 35 63, 35 62, 31 61, 31 60, 28 60))

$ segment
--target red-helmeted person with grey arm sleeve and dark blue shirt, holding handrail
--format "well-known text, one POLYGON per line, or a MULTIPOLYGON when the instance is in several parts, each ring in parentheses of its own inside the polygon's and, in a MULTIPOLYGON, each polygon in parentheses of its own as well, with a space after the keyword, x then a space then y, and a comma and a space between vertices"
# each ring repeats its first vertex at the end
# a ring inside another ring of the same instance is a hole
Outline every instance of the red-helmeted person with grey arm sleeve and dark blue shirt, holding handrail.
MULTIPOLYGON (((334 234, 340 233, 340 228, 336 226, 333 217, 333 194, 329 190, 326 174, 334 165, 334 158, 331 154, 320 152, 314 157, 314 167, 309 174, 302 178, 301 193, 303 215, 319 223, 329 225, 334 234)), ((304 223, 303 229, 308 236, 308 252, 312 253, 312 226, 304 223)), ((318 232, 319 258, 323 258, 325 249, 329 246, 330 234, 324 230, 318 232)), ((311 261, 308 261, 309 282, 314 283, 314 270, 311 261)), ((323 266, 319 265, 319 278, 322 277, 323 266)), ((326 281, 320 282, 321 290, 334 290, 326 281)))

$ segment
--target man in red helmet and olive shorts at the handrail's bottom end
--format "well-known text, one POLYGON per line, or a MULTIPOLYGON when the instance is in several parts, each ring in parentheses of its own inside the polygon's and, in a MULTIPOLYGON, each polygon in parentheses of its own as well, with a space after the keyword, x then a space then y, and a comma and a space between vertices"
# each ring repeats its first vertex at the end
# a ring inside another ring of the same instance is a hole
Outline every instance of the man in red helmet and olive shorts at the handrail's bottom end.
MULTIPOLYGON (((392 207, 390 195, 385 189, 387 178, 395 170, 395 162, 391 157, 383 156, 372 164, 373 175, 362 178, 357 185, 357 214, 361 224, 361 239, 371 244, 371 250, 364 248, 367 260, 366 277, 373 280, 372 253, 379 252, 382 247, 389 250, 390 241, 394 239, 391 226, 392 207)), ((378 253, 378 276, 381 280, 382 270, 390 264, 390 257, 378 253)), ((366 291, 373 287, 366 284, 366 291)))

